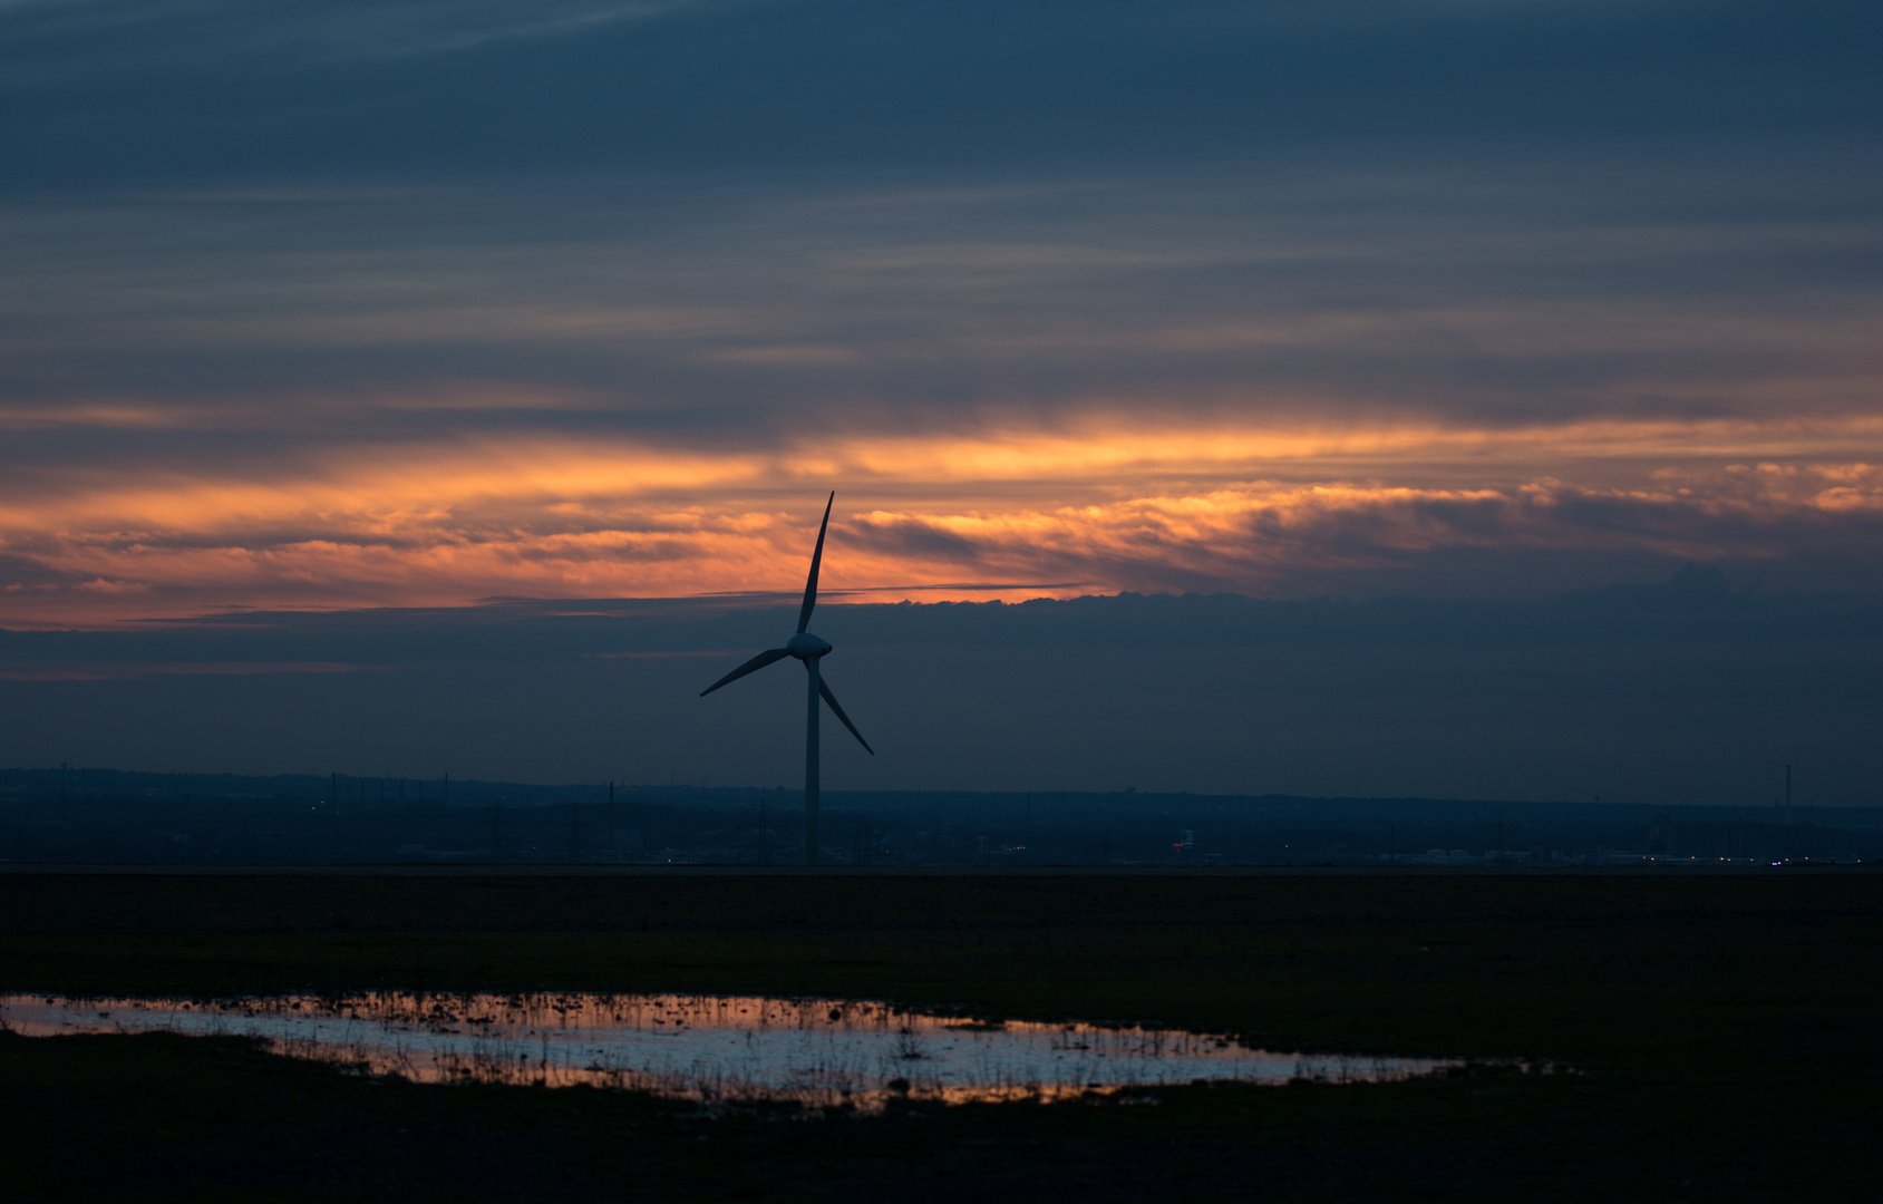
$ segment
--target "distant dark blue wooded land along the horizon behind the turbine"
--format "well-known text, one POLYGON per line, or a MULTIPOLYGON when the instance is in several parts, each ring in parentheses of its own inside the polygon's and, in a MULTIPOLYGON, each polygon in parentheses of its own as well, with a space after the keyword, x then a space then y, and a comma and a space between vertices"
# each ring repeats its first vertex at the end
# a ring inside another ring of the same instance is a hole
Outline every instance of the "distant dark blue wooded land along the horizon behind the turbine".
MULTIPOLYGON (((1883 857, 1883 808, 827 791, 830 865, 1683 865, 1883 857)), ((684 784, 0 771, 0 861, 797 863, 802 795, 684 784)))

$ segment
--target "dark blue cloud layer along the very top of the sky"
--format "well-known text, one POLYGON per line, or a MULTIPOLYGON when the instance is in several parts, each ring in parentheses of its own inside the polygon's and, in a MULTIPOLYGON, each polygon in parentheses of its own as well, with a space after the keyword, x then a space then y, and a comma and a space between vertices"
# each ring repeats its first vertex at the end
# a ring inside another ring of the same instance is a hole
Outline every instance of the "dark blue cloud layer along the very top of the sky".
POLYGON ((0 70, 36 171, 802 166, 1851 128, 1872 34, 1749 0, 13 4, 0 70))

